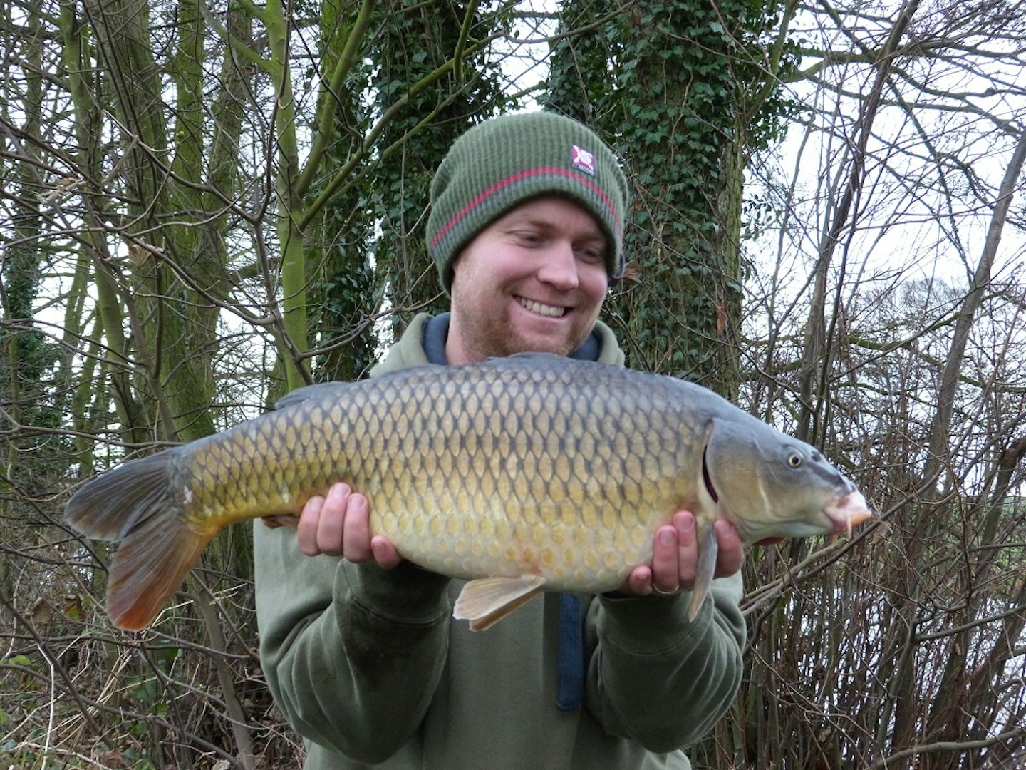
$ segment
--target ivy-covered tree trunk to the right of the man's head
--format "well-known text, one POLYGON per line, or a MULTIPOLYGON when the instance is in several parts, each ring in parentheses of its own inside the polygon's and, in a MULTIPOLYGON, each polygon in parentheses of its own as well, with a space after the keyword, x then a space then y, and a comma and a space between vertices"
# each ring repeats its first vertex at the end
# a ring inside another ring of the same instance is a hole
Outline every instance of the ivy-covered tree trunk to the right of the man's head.
MULTIPOLYGON (((613 10, 570 2, 563 28, 613 10)), ((746 153, 784 130, 768 32, 776 4, 667 0, 632 6, 553 50, 549 104, 590 122, 631 171, 634 227, 625 247, 640 282, 609 306, 635 365, 733 394, 744 265, 746 153), (611 77, 609 75, 611 73, 611 77)), ((784 46, 781 67, 795 64, 784 46)))

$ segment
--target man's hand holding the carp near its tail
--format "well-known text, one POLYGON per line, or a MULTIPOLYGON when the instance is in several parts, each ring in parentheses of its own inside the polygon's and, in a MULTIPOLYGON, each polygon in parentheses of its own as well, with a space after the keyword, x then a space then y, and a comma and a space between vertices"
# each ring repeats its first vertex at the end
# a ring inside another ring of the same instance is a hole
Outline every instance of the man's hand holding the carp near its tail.
POLYGON ((295 537, 308 556, 326 553, 350 562, 369 562, 390 570, 402 561, 381 535, 370 537, 370 503, 348 484, 336 484, 327 497, 312 497, 303 506, 295 537))

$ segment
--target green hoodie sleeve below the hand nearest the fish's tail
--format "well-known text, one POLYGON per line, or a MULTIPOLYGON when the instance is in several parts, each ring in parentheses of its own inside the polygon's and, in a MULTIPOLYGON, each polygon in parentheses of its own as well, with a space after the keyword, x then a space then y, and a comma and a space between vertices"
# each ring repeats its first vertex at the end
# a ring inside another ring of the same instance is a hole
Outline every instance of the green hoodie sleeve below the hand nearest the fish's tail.
POLYGON ((261 662, 285 719, 352 759, 382 762, 424 718, 448 650, 449 579, 408 563, 303 555, 255 523, 261 662))

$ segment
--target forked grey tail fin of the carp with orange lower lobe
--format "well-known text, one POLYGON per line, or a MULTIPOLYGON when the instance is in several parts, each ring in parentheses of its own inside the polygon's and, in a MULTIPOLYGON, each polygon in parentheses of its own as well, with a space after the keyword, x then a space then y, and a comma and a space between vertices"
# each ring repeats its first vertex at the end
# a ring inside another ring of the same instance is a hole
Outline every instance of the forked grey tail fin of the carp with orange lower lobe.
POLYGON ((119 628, 146 627, 213 536, 183 515, 168 474, 176 456, 167 450, 125 463, 86 484, 65 507, 65 521, 79 532, 121 541, 107 584, 107 613, 119 628))

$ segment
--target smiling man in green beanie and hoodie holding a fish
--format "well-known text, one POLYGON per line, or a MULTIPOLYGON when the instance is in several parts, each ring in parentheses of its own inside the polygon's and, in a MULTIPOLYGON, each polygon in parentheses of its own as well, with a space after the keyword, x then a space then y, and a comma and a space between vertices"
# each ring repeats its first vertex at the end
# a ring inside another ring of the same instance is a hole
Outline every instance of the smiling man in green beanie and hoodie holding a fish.
MULTIPOLYGON (((594 133, 551 113, 488 120, 453 144, 431 200, 451 312, 415 318, 372 376, 522 351, 623 364, 598 312, 623 274, 627 183, 594 133)), ((403 562, 371 514, 336 485, 295 534, 255 529, 261 659, 306 768, 687 768, 681 747, 734 698, 745 623, 727 523, 694 622, 695 519, 677 511, 620 591, 545 593, 472 632, 450 617, 462 581, 403 562)))

